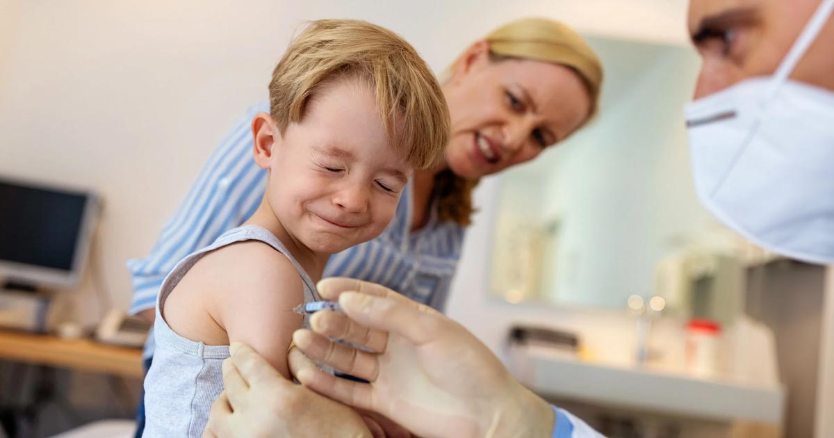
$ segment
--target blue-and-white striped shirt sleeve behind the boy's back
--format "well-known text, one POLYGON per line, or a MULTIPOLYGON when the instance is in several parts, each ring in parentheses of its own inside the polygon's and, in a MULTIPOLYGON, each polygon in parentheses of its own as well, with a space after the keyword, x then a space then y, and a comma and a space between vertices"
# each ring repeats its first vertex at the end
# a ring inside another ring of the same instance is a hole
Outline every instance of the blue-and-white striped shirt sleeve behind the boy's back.
POLYGON ((266 172, 252 158, 250 123, 269 103, 249 108, 203 166, 150 254, 128 260, 133 300, 130 313, 156 306, 163 279, 186 255, 214 242, 220 234, 242 224, 264 195, 266 172))

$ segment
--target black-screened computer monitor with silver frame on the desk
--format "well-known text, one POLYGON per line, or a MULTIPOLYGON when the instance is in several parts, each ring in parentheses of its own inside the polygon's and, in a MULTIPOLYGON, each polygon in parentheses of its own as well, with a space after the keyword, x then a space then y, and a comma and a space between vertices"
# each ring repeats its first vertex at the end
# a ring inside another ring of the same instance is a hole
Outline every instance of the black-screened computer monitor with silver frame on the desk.
POLYGON ((0 285, 78 284, 97 216, 92 192, 0 178, 0 285))

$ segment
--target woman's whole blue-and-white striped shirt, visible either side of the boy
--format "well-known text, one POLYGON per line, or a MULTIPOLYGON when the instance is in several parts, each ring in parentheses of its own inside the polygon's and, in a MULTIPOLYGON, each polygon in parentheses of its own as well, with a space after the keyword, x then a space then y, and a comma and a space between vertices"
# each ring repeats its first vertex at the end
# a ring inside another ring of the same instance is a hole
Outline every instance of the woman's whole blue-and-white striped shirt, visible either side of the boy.
MULTIPOLYGON (((268 112, 269 105, 250 108, 220 143, 176 213, 163 226, 150 254, 128 261, 133 283, 132 314, 153 309, 163 279, 179 260, 243 224, 258 209, 267 172, 254 163, 249 127, 260 111, 268 112)), ((443 310, 465 229, 453 222, 439 222, 436 209, 431 209, 428 224, 410 232, 411 189, 409 184, 403 191, 394 218, 383 233, 331 256, 324 276, 373 281, 443 310)))

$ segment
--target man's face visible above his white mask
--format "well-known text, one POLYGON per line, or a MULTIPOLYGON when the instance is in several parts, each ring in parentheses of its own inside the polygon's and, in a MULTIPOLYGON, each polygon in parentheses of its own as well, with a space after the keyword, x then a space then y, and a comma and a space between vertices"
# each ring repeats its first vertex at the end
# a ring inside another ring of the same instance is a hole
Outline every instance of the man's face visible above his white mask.
MULTIPOLYGON (((821 0, 691 0, 689 32, 703 64, 695 89, 702 98, 743 79, 773 73, 821 0)), ((834 19, 797 64, 791 78, 834 90, 834 19)))

